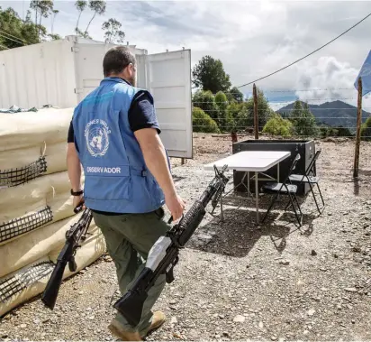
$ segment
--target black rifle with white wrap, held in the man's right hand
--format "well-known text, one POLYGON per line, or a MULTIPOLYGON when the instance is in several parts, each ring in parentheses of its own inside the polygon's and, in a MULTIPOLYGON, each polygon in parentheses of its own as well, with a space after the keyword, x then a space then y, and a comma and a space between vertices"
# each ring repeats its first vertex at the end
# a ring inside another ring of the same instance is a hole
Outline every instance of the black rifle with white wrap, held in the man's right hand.
MULTIPOLYGON (((221 198, 222 192, 229 180, 222 171, 214 166, 215 177, 209 183, 201 197, 195 201, 179 223, 172 226, 165 236, 160 236, 149 251, 149 256, 144 269, 138 278, 132 283, 131 288, 114 304, 122 316, 132 325, 137 326, 144 301, 148 297, 150 288, 157 281, 158 276, 166 274, 166 282, 174 281, 174 266, 178 262, 179 249, 184 248, 185 243, 194 234, 195 229, 201 223, 205 215, 205 207, 212 200, 213 209, 221 198)), ((172 217, 169 219, 171 222, 172 217)))

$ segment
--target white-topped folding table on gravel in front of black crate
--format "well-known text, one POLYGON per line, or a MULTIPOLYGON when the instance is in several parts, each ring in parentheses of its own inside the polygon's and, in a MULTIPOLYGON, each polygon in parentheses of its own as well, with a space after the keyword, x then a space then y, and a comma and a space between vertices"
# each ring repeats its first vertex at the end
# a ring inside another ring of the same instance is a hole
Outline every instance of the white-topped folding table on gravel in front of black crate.
MULTIPOLYGON (((234 153, 226 158, 222 158, 216 162, 210 162, 208 164, 204 165, 204 170, 210 170, 212 171, 214 166, 217 168, 222 168, 224 165, 227 165, 227 170, 234 170, 234 171, 244 171, 244 175, 242 177, 242 180, 240 183, 235 186, 233 189, 228 191, 224 197, 227 196, 227 194, 240 185, 243 185, 246 188, 246 185, 244 184, 244 180, 246 176, 248 176, 249 180, 249 172, 255 173, 255 198, 256 198, 256 209, 257 209, 257 224, 259 224, 259 211, 258 211, 258 173, 262 173, 264 171, 269 170, 270 168, 277 166, 277 179, 276 181, 279 181, 279 163, 284 161, 286 158, 288 158, 291 155, 290 151, 241 151, 239 153, 234 153)), ((268 176, 267 174, 264 174, 267 178, 264 180, 275 180, 273 177, 268 176)), ((260 179, 262 180, 262 179, 260 179)), ((248 182, 248 193, 250 195, 249 191, 249 182, 248 182)), ((221 198, 221 211, 222 211, 222 198, 221 198)), ((222 213, 221 213, 222 214, 222 213)), ((223 214, 222 214, 223 219, 223 214)))

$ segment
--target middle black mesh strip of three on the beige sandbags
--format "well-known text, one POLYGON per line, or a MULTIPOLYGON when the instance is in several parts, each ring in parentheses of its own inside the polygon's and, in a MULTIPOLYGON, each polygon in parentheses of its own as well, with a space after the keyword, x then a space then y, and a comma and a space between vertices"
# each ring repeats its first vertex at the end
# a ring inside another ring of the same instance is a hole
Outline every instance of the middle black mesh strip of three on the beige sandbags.
POLYGON ((49 206, 24 217, 14 218, 0 225, 0 243, 14 236, 20 236, 24 233, 31 232, 52 220, 53 213, 49 206))

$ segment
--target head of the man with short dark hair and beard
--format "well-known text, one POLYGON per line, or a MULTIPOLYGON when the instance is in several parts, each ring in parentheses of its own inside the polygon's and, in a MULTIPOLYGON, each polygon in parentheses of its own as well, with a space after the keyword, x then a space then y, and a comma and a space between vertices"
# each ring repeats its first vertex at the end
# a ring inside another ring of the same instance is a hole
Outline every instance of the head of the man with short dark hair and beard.
POLYGON ((136 86, 135 56, 125 46, 116 46, 105 53, 103 60, 104 77, 118 77, 126 79, 132 86, 136 86))

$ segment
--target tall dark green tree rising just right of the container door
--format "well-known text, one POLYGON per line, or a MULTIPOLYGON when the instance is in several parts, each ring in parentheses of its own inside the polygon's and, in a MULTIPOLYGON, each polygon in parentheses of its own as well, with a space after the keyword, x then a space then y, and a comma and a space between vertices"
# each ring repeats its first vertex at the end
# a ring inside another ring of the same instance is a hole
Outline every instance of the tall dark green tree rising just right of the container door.
POLYGON ((218 91, 227 92, 231 88, 230 76, 225 73, 221 60, 204 56, 192 71, 193 83, 196 88, 210 90, 213 94, 218 91))

